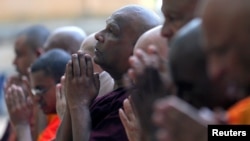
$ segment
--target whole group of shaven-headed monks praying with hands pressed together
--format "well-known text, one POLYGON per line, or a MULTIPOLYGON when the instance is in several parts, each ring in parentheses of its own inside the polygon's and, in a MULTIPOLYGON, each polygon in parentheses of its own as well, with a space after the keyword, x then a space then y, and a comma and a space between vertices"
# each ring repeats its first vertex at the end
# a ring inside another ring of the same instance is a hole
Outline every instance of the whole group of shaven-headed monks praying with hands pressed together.
POLYGON ((250 2, 162 0, 161 10, 124 5, 90 34, 21 31, 2 140, 207 141, 208 125, 249 125, 250 2))

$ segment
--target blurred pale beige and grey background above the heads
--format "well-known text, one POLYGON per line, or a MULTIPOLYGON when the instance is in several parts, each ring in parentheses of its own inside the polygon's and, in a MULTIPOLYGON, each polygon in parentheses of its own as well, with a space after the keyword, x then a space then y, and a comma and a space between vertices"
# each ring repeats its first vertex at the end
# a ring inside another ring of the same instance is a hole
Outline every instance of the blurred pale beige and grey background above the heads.
POLYGON ((105 19, 127 4, 146 6, 160 16, 161 0, 0 0, 0 73, 14 73, 13 40, 20 30, 43 24, 53 30, 79 26, 87 34, 105 27, 105 19))

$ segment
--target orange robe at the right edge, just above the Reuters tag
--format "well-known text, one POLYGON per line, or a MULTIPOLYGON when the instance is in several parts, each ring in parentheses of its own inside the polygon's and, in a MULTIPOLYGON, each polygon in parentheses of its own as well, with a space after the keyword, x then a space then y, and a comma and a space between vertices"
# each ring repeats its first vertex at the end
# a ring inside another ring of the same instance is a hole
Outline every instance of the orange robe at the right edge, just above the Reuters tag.
POLYGON ((250 97, 246 97, 227 111, 229 124, 250 124, 250 97))

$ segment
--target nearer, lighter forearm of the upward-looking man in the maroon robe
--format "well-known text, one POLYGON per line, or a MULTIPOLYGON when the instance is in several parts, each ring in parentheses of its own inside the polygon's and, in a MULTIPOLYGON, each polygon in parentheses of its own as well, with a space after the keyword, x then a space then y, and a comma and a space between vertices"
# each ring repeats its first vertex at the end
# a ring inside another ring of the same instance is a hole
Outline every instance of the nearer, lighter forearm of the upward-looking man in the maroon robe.
POLYGON ((82 105, 70 109, 74 141, 88 141, 90 136, 89 107, 82 105))

